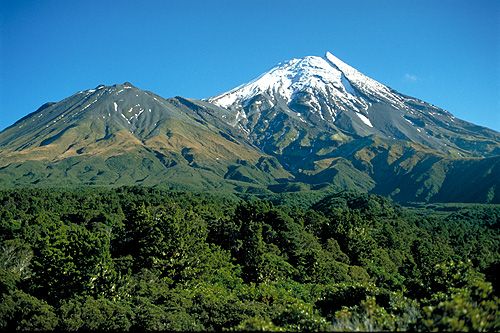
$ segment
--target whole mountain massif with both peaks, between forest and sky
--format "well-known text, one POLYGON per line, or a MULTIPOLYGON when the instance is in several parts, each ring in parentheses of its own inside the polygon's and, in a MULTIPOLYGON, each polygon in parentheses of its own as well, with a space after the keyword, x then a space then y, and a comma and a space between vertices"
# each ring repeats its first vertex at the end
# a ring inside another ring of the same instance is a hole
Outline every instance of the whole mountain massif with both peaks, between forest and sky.
POLYGON ((402 202, 500 203, 499 155, 500 133, 327 53, 204 100, 125 83, 47 103, 0 132, 0 184, 260 196, 333 186, 402 202))

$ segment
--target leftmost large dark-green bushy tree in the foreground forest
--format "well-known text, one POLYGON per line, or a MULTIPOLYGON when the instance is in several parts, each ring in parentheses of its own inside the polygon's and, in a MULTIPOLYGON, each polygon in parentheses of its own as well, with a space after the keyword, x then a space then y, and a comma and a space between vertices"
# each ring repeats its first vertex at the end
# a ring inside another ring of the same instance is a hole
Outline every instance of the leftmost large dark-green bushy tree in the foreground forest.
POLYGON ((113 275, 106 235, 94 234, 78 225, 37 219, 33 244, 33 276, 30 290, 37 297, 56 303, 73 295, 95 294, 109 287, 113 275))

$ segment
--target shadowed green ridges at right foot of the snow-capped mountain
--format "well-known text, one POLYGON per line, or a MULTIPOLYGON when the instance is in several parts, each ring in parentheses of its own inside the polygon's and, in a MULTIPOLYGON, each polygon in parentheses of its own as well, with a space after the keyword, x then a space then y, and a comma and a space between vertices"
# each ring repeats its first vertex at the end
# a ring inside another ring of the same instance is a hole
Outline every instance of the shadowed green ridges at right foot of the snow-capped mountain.
POLYGON ((360 185, 346 188, 400 202, 500 202, 500 156, 452 158, 417 143, 374 135, 341 146, 296 179, 340 185, 339 177, 350 174, 357 175, 353 179, 360 185), (337 179, 330 178, 332 173, 337 179))

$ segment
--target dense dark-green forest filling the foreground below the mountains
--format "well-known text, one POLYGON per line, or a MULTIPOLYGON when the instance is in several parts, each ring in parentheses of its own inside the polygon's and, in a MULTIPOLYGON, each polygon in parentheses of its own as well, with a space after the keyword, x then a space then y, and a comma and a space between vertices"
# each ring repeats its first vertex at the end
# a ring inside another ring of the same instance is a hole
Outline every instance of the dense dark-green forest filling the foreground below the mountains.
POLYGON ((0 328, 498 331, 499 227, 351 191, 3 190, 0 328))

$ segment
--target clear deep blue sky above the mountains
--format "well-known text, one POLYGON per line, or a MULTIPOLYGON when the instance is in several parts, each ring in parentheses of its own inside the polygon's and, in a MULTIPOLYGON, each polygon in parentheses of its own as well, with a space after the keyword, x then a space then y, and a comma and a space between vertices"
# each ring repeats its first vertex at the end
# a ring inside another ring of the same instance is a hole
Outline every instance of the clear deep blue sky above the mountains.
POLYGON ((330 51, 500 131, 497 0, 0 0, 0 38, 0 130, 100 84, 201 99, 330 51))

